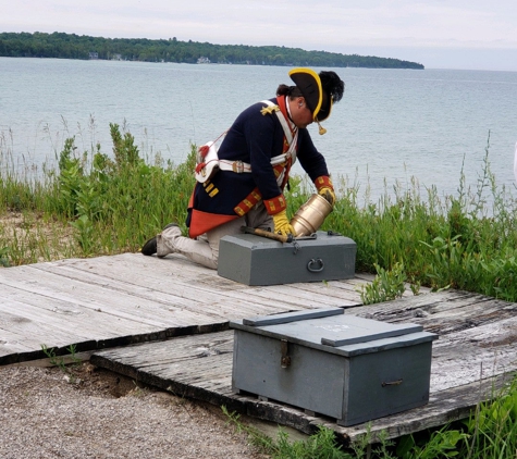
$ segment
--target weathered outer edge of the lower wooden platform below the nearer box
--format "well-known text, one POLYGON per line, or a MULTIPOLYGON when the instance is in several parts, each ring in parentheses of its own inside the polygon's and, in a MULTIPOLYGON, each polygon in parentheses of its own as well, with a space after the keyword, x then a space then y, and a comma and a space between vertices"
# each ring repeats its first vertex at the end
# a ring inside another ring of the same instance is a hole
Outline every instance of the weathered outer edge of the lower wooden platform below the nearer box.
POLYGON ((491 379, 467 384, 431 395, 428 405, 404 411, 398 414, 372 420, 364 424, 343 427, 328 417, 309 415, 304 410, 274 401, 262 401, 253 395, 231 394, 229 387, 217 393, 205 387, 187 385, 177 381, 164 380, 151 373, 135 370, 119 361, 110 360, 100 355, 91 355, 90 362, 97 367, 126 375, 144 384, 171 392, 180 397, 225 406, 230 412, 237 412, 262 421, 293 427, 304 434, 313 435, 320 426, 334 431, 336 438, 347 444, 370 436, 376 443, 380 434, 392 439, 403 435, 421 432, 430 427, 440 427, 450 422, 467 419, 478 404, 494 399, 501 394, 505 384, 512 381, 508 373, 494 375, 491 379))

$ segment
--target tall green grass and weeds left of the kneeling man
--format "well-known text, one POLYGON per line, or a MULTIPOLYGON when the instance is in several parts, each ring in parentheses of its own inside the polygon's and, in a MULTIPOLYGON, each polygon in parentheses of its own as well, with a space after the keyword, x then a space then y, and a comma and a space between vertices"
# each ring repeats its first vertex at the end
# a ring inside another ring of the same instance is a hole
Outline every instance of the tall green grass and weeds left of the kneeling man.
POLYGON ((111 125, 111 136, 110 154, 99 145, 77 153, 74 138, 66 139, 57 166, 44 168, 38 181, 14 173, 9 152, 0 149, 0 218, 8 212, 23 218, 14 228, 0 227, 2 264, 137 251, 167 223, 183 224, 194 154, 177 166, 159 157, 149 163, 130 133, 111 125), (49 225, 54 231, 38 237, 49 225))

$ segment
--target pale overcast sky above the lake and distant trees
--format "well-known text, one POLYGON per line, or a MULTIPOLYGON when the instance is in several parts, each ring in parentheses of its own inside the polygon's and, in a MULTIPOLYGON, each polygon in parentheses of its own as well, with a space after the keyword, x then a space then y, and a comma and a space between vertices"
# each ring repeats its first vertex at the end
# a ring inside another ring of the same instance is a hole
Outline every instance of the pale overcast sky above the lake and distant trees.
POLYGON ((517 0, 0 0, 0 32, 278 45, 517 71, 517 0))

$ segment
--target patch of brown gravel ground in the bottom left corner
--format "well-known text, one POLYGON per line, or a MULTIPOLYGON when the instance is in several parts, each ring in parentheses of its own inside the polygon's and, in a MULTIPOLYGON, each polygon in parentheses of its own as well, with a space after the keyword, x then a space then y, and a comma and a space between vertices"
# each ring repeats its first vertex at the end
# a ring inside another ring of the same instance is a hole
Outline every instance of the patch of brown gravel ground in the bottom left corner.
POLYGON ((266 458, 219 407, 81 363, 0 368, 0 457, 266 458))

